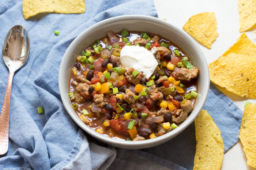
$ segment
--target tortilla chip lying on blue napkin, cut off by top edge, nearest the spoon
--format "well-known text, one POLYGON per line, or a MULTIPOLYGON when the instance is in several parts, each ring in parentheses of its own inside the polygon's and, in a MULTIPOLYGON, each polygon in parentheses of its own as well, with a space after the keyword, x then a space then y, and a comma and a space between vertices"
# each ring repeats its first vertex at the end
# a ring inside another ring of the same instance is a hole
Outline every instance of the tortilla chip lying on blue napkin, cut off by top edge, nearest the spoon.
POLYGON ((84 0, 23 0, 23 16, 29 19, 39 13, 84 13, 84 0))

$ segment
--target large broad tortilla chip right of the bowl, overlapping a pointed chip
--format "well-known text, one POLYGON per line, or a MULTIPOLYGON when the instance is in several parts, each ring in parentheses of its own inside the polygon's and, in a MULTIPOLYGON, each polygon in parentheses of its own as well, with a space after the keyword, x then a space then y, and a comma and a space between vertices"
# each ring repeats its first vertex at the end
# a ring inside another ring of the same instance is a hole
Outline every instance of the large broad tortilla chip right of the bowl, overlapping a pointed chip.
POLYGON ((230 53, 209 64, 210 80, 241 97, 256 99, 256 58, 230 53))

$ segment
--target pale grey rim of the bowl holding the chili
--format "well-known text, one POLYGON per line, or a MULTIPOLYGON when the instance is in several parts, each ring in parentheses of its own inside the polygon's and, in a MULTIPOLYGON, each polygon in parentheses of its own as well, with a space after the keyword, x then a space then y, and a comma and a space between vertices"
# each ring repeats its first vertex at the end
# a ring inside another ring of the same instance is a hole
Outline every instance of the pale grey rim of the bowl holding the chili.
POLYGON ((210 75, 209 75, 209 70, 208 70, 208 64, 207 64, 206 58, 205 58, 202 50, 197 45, 196 41, 193 40, 192 37, 189 36, 187 32, 185 32, 181 28, 177 27, 176 25, 174 25, 172 23, 169 23, 167 21, 164 21, 162 19, 159 19, 157 17, 145 16, 145 15, 122 15, 122 16, 111 17, 111 18, 99 21, 98 23, 96 23, 96 24, 90 26, 89 28, 87 28, 86 30, 84 30, 82 33, 80 33, 72 41, 72 43, 68 46, 67 50, 65 51, 65 53, 63 55, 63 58, 61 60, 61 63, 60 63, 59 75, 58 75, 58 84, 59 84, 59 91, 60 91, 61 100, 63 102, 63 105, 64 105, 65 109, 67 110, 69 116, 71 116, 71 118, 74 120, 74 122, 76 124, 78 124, 78 126, 80 128, 82 128, 84 131, 86 131, 86 133, 90 134, 94 138, 99 139, 102 142, 113 143, 113 145, 145 146, 145 145, 153 145, 153 144, 158 143, 158 142, 161 143, 161 141, 165 141, 166 139, 169 139, 169 138, 172 139, 171 137, 174 138, 175 136, 180 134, 182 131, 184 131, 195 120, 195 118, 197 117, 199 112, 202 110, 202 108, 203 108, 203 106, 206 102, 208 92, 209 92, 209 88, 210 88, 210 75), (125 140, 110 138, 110 137, 107 137, 106 135, 102 135, 102 134, 97 133, 96 131, 91 129, 89 126, 84 124, 82 121, 77 120, 78 115, 75 113, 75 111, 73 109, 71 110, 71 109, 69 109, 69 107, 67 107, 67 105, 70 104, 70 103, 67 103, 65 101, 65 98, 67 97, 66 96, 67 94, 65 93, 65 91, 61 90, 61 79, 60 78, 61 78, 61 76, 63 76, 63 74, 65 74, 64 71, 62 71, 64 69, 65 60, 66 60, 66 58, 69 57, 69 53, 79 43, 80 39, 82 39, 85 35, 89 34, 94 29, 99 28, 101 26, 104 26, 106 24, 113 23, 113 22, 118 22, 118 21, 129 21, 129 20, 150 21, 150 22, 160 24, 160 25, 163 25, 167 28, 171 28, 171 29, 175 30, 177 32, 177 34, 184 37, 184 39, 186 39, 188 41, 188 43, 193 44, 193 48, 195 48, 195 50, 197 50, 197 52, 200 54, 200 58, 202 59, 202 62, 205 65, 206 70, 207 70, 207 77, 205 79, 205 81, 206 81, 206 92, 204 93, 204 95, 201 96, 203 98, 203 102, 202 103, 196 103, 196 104, 199 104, 199 106, 197 106, 199 109, 196 112, 196 114, 194 114, 194 115, 190 114, 189 116, 192 116, 191 119, 186 123, 184 123, 184 122, 181 123, 178 126, 177 129, 174 129, 174 130, 170 131, 169 133, 161 135, 157 138, 147 139, 147 140, 143 140, 143 141, 125 141, 125 140))

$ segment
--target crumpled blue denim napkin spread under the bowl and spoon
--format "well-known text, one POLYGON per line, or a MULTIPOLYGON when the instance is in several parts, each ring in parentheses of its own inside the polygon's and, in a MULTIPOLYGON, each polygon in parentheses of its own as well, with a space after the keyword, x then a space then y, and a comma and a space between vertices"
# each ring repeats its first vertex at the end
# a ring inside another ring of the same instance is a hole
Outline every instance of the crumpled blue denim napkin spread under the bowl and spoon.
MULTIPOLYGON (((9 150, 0 156, 0 169, 192 169, 195 127, 176 138, 143 150, 118 149, 90 137, 69 117, 61 102, 58 71, 69 44, 91 25, 118 15, 157 17, 153 0, 86 1, 83 14, 49 14, 25 20, 21 0, 0 0, 0 46, 8 30, 20 24, 30 36, 30 55, 16 72, 10 106, 9 150), (54 30, 60 35, 54 35, 54 30), (44 114, 37 113, 44 107, 44 114)), ((8 69, 0 59, 0 106, 8 69)), ((225 151, 238 141, 239 108, 213 84, 204 106, 221 130, 225 151)))

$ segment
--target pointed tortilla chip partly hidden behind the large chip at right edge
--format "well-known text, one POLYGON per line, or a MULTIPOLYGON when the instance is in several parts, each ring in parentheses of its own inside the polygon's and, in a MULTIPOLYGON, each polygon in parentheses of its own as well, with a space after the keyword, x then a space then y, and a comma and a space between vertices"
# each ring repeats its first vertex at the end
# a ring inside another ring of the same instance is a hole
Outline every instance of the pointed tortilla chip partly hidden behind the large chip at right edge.
POLYGON ((236 43, 229 48, 222 56, 226 56, 230 53, 243 54, 249 57, 256 58, 256 46, 246 36, 245 32, 237 39, 236 43))

